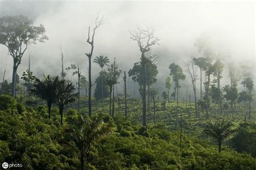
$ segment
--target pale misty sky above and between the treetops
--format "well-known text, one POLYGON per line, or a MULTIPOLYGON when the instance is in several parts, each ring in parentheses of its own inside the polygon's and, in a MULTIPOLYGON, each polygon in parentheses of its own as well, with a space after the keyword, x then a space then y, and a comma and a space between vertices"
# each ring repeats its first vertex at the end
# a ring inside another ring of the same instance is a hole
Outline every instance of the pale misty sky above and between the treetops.
MULTIPOLYGON (((0 1, 0 17, 26 15, 35 25, 43 24, 49 37, 45 43, 29 47, 18 73, 27 69, 30 53, 31 70, 37 76, 60 74, 61 44, 65 67, 79 63, 87 77, 87 30, 94 26, 97 13, 104 14, 106 20, 97 29, 93 58, 104 55, 112 61, 116 57, 122 70, 129 71, 139 61, 138 46, 129 33, 137 25, 153 26, 160 38, 160 45, 152 47, 152 53, 159 56, 159 77, 168 76, 171 63, 184 67, 190 56, 200 56, 194 41, 202 35, 209 38, 215 52, 229 56, 225 63, 250 61, 255 68, 254 2, 0 1)), ((0 78, 5 67, 6 77, 11 77, 12 58, 6 53, 6 47, 0 46, 0 78)), ((93 64, 92 70, 94 82, 99 66, 93 64)))

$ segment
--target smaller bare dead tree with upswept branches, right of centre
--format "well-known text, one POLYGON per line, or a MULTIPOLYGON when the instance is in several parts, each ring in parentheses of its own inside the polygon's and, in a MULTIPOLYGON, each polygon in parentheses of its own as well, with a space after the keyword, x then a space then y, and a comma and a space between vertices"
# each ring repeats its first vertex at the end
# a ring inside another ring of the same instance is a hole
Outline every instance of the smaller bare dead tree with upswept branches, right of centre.
POLYGON ((191 58, 190 62, 186 64, 186 71, 190 74, 191 81, 192 81, 192 86, 193 86, 193 91, 194 91, 194 107, 196 110, 196 115, 198 117, 198 111, 197 111, 197 88, 196 88, 196 81, 198 79, 197 71, 194 67, 194 60, 191 58))

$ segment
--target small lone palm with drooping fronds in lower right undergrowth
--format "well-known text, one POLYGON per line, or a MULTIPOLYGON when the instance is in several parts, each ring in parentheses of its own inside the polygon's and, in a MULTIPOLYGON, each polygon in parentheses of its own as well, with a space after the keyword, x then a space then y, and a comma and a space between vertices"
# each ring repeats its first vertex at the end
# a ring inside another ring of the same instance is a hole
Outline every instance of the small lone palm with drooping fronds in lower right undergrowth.
POLYGON ((232 123, 223 119, 211 121, 204 132, 218 141, 219 153, 221 151, 221 144, 224 139, 231 135, 234 131, 231 129, 232 123))

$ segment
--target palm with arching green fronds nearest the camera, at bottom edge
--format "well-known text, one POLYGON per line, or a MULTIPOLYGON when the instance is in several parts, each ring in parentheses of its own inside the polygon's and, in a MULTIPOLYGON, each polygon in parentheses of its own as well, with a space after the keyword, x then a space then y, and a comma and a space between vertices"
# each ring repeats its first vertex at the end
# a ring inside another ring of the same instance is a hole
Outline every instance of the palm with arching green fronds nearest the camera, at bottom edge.
POLYGON ((84 161, 89 162, 92 143, 109 134, 112 127, 110 124, 103 122, 101 115, 70 117, 68 123, 69 126, 66 126, 65 129, 65 134, 67 134, 65 144, 79 152, 81 169, 83 170, 84 161))

